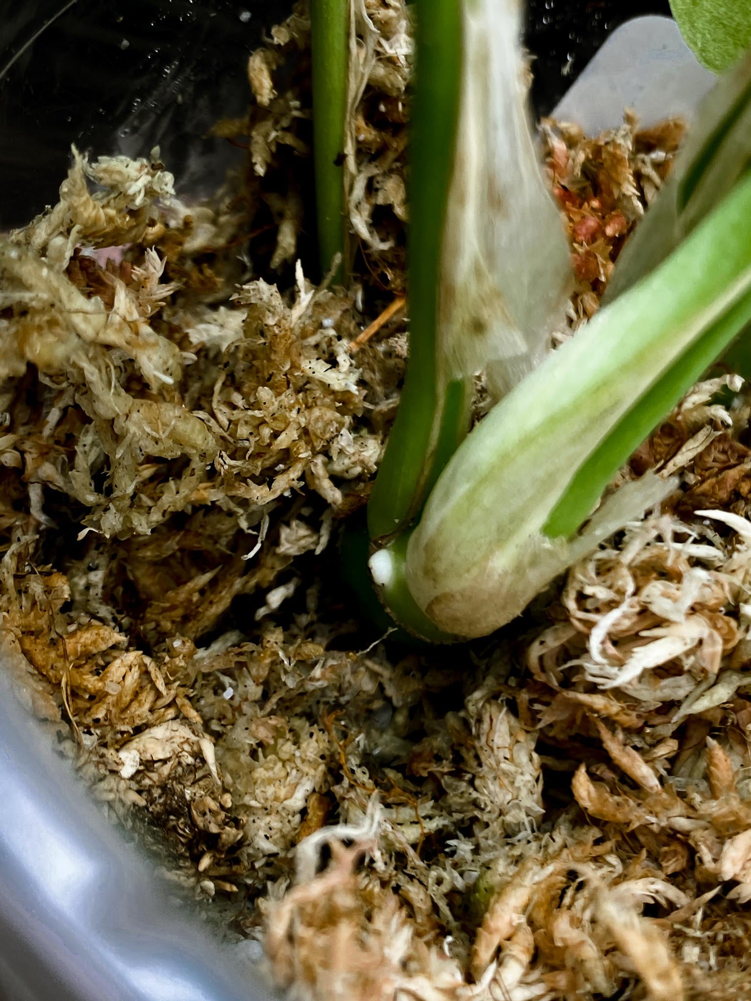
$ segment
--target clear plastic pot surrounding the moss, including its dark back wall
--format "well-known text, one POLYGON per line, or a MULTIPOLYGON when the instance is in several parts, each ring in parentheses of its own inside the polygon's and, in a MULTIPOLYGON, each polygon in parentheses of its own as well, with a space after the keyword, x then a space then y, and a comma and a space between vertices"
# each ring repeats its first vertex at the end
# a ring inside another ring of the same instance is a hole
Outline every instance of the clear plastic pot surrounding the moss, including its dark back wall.
MULTIPOLYGON (((6 0, 6 8, 10 4, 6 0)), ((247 99, 241 65, 287 4, 214 0, 28 3, 0 24, 0 231, 52 202, 76 142, 97 152, 159 144, 183 191, 210 190, 232 155, 205 139, 247 99), (226 67, 231 67, 227 72, 226 67), (3 68, 4 67, 4 68, 3 68)), ((535 101, 550 112, 589 56, 633 13, 665 3, 536 0, 535 101)), ((597 130, 625 104, 646 120, 690 113, 711 83, 665 18, 613 35, 559 106, 597 130)), ((112 828, 11 695, 0 666, 0 998, 261 1001, 257 978, 178 906, 153 864, 112 828)))

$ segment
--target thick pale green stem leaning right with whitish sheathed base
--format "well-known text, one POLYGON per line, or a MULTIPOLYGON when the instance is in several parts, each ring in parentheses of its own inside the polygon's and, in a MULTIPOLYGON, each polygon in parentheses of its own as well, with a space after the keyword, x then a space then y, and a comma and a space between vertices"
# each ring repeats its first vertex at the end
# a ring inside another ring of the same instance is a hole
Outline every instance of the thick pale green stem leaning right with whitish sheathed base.
POLYGON ((746 176, 653 274, 493 408, 439 478, 406 560, 379 555, 392 591, 401 571, 437 628, 486 635, 656 503, 657 477, 643 493, 622 487, 612 500, 628 504, 598 512, 607 531, 585 528, 633 448, 751 319, 750 216, 746 176))

